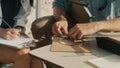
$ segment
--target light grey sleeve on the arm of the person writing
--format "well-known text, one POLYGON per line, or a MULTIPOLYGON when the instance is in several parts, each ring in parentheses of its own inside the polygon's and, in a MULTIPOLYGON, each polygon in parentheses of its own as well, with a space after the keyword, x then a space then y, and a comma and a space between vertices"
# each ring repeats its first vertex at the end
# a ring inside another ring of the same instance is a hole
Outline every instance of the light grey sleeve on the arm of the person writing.
POLYGON ((25 27, 25 24, 27 23, 27 16, 30 14, 30 10, 31 10, 30 6, 26 8, 21 6, 17 16, 14 17, 14 20, 16 22, 14 27, 16 26, 25 27))

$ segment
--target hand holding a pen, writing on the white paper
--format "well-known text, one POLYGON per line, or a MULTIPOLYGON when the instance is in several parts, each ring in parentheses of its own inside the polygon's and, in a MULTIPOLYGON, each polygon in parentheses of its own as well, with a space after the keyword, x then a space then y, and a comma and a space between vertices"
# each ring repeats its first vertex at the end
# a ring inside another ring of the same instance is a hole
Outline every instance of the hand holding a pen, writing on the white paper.
POLYGON ((20 30, 14 28, 2 29, 0 35, 7 40, 12 40, 20 36, 20 30))

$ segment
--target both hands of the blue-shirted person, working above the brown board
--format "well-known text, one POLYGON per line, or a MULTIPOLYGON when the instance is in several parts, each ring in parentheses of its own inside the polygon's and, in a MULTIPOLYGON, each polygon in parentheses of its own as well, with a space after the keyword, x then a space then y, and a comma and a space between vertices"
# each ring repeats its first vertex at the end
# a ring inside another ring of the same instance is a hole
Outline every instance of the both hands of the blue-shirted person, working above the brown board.
POLYGON ((72 39, 82 39, 85 35, 96 33, 98 30, 95 27, 95 23, 76 24, 68 31, 68 22, 61 20, 53 24, 52 30, 57 36, 66 35, 72 39))

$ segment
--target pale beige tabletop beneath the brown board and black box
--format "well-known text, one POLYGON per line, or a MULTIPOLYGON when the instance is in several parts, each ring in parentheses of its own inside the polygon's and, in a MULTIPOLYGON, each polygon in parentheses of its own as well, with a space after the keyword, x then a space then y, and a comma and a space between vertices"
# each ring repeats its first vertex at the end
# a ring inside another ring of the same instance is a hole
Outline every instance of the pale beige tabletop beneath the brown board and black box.
POLYGON ((100 58, 111 53, 97 47, 96 41, 90 42, 92 53, 51 52, 51 45, 30 51, 30 54, 45 61, 65 68, 95 68, 87 61, 100 58))

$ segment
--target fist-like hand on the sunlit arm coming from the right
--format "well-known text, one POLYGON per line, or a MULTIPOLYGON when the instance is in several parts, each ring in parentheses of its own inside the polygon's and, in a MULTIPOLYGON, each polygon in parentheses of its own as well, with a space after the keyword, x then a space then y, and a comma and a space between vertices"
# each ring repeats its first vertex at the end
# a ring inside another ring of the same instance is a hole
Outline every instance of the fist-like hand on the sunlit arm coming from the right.
POLYGON ((82 39, 84 35, 91 35, 98 31, 96 23, 76 24, 69 30, 69 37, 73 39, 82 39))

